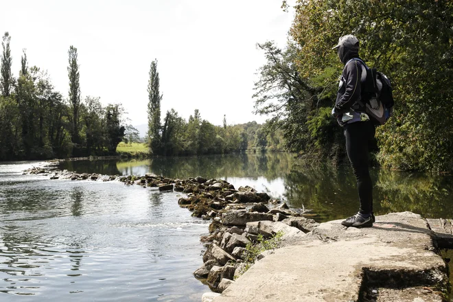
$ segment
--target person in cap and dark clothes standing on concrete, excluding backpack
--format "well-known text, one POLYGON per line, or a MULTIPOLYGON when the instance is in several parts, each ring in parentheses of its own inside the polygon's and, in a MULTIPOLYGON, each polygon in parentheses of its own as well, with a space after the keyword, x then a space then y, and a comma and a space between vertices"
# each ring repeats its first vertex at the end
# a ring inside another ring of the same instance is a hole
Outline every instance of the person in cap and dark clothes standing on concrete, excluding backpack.
POLYGON ((367 80, 367 65, 359 58, 359 41, 348 34, 338 39, 342 71, 336 104, 332 115, 344 128, 346 151, 357 179, 360 210, 341 222, 345 227, 373 227, 373 185, 369 174, 369 145, 375 135, 375 127, 365 113, 362 102, 362 85, 367 80))

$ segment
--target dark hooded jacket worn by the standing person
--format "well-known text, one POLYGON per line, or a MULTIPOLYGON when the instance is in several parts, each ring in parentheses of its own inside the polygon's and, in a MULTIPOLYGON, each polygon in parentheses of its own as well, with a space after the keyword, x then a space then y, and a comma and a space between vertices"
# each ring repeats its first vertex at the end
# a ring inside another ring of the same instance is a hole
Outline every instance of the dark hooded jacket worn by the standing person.
POLYGON ((338 47, 338 56, 345 68, 341 74, 340 84, 335 102, 334 113, 347 113, 350 108, 363 112, 364 107, 358 103, 361 100, 362 82, 367 78, 367 69, 359 60, 358 49, 338 47))

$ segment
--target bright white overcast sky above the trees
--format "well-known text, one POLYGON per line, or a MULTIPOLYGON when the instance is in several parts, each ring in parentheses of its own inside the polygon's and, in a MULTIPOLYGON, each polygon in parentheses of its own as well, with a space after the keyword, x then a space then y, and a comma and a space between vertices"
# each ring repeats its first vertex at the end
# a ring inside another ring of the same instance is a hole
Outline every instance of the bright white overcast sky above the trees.
POLYGON ((158 60, 162 119, 174 108, 188 119, 198 108, 212 124, 253 115, 253 82, 265 62, 256 43, 284 47, 293 19, 281 0, 22 0, 2 4, 1 36, 10 32, 13 75, 22 49, 67 97, 70 45, 78 49, 82 99, 121 103, 132 125, 148 119, 150 63, 158 60))

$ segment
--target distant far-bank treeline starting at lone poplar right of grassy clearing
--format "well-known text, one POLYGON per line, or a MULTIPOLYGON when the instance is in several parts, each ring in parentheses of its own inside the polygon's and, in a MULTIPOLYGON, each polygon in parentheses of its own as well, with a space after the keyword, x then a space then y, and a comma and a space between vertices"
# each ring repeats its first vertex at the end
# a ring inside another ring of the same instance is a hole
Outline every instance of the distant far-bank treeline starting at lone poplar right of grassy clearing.
POLYGON ((224 154, 246 150, 283 150, 281 131, 266 132, 255 121, 222 126, 202 119, 198 109, 186 121, 171 109, 161 122, 161 101, 157 60, 150 66, 148 81, 148 134, 146 142, 154 155, 224 154))

